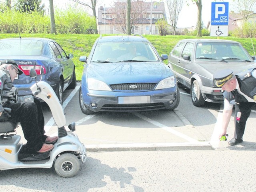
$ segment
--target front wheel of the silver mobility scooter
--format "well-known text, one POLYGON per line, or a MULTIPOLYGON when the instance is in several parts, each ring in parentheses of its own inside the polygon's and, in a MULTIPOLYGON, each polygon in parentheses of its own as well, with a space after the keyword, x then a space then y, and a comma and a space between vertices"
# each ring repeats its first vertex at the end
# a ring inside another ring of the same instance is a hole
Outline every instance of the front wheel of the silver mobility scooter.
POLYGON ((80 169, 80 161, 74 154, 65 153, 56 159, 54 168, 61 177, 73 177, 80 169))

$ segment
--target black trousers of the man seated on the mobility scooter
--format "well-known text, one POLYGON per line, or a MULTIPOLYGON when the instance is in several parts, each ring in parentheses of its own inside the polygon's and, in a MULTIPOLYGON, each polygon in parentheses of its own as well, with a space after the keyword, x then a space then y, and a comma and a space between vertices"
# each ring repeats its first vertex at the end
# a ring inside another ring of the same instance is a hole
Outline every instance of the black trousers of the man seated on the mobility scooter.
POLYGON ((44 135, 44 115, 40 101, 34 98, 34 102, 10 103, 5 107, 11 108, 11 120, 20 122, 25 139, 26 150, 36 152, 42 148, 46 137, 44 135))

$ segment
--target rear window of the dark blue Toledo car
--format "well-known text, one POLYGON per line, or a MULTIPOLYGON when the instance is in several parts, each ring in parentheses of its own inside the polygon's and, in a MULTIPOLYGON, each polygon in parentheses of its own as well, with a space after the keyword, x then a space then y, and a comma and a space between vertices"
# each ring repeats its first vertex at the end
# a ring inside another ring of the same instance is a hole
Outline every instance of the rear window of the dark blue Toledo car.
POLYGON ((0 56, 37 56, 42 53, 43 42, 15 39, 0 41, 0 56))

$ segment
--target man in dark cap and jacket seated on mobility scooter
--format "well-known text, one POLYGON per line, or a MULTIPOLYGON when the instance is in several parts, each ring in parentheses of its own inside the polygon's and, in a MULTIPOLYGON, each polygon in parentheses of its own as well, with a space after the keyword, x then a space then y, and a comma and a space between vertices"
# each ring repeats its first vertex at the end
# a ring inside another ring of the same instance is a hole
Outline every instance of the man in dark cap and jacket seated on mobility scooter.
POLYGON ((53 143, 58 137, 44 135, 44 116, 38 99, 35 98, 34 102, 17 101, 18 88, 12 82, 22 73, 14 60, 0 61, 0 120, 20 122, 27 140, 27 152, 48 152, 54 148, 53 143), (9 118, 5 116, 4 107, 12 109, 9 118))

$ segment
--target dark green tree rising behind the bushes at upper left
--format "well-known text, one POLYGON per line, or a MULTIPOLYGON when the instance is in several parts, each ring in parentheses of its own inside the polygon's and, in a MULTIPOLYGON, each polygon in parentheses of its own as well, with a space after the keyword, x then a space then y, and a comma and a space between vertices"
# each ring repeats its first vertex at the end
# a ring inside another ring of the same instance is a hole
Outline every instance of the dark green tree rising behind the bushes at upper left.
POLYGON ((41 12, 44 13, 44 4, 42 0, 18 0, 16 4, 16 10, 20 12, 41 12))

